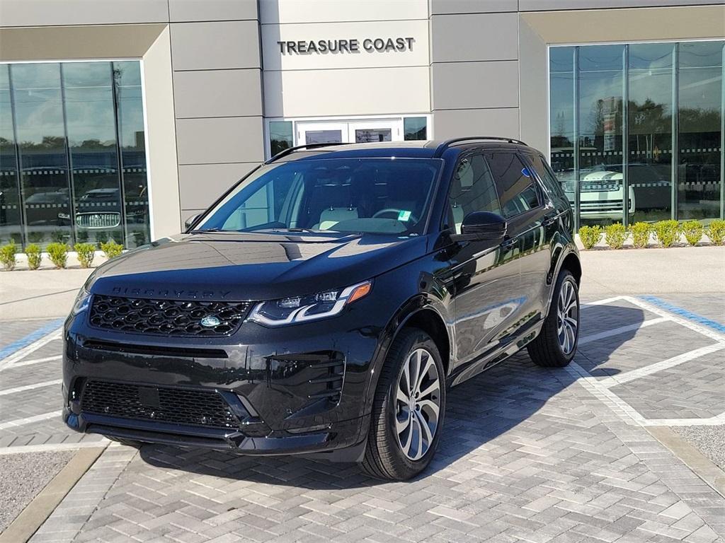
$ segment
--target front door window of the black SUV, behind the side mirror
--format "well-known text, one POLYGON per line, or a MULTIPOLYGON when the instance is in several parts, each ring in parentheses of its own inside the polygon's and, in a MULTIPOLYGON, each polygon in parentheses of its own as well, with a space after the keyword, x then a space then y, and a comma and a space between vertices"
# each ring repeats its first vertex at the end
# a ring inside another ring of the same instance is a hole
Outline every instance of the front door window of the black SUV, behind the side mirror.
POLYGON ((501 214, 494 178, 483 156, 469 155, 458 161, 448 201, 457 234, 460 234, 463 218, 472 211, 501 214))

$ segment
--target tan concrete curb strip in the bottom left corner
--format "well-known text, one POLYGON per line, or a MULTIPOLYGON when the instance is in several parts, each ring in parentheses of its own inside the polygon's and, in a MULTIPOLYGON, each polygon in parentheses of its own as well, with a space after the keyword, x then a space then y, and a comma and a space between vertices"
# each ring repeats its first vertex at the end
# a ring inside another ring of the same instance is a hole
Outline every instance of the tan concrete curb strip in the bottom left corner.
POLYGON ((105 449, 106 447, 88 447, 76 452, 67 466, 54 476, 28 507, 10 523, 7 530, 0 534, 0 543, 27 542, 105 449))

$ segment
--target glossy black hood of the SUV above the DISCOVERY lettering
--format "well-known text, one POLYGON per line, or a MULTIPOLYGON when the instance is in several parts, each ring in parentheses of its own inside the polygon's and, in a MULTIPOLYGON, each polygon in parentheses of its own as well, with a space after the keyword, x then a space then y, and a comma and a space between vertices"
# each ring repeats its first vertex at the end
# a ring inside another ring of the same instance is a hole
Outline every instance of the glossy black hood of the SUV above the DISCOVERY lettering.
POLYGON ((347 287, 426 253, 425 237, 210 232, 164 238, 99 266, 96 294, 273 300, 347 287))

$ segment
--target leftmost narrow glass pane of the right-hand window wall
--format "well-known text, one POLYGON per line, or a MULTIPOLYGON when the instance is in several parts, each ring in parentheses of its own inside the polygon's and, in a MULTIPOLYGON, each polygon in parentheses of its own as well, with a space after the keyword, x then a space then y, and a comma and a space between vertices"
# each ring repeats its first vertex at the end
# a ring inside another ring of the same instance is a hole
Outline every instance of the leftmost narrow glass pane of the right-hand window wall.
POLYGON ((574 56, 575 47, 556 47, 549 51, 551 167, 569 199, 576 201, 574 172, 574 56))

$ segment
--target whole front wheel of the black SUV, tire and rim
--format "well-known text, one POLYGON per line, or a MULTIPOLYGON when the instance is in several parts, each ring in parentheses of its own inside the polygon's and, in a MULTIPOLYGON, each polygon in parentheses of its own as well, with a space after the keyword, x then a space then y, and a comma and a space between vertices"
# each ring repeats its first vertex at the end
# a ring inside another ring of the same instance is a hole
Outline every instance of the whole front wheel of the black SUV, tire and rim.
POLYGON ((435 342, 420 329, 404 329, 378 380, 363 469, 394 481, 421 473, 436 451, 445 407, 445 374, 435 342))

